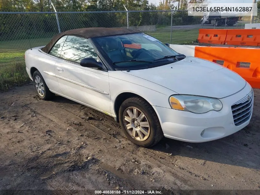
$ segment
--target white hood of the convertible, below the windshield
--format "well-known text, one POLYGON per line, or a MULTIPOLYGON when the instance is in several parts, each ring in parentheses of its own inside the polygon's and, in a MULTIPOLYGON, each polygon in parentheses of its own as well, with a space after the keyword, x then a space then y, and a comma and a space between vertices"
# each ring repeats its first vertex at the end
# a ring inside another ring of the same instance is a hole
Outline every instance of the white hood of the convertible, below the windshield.
POLYGON ((160 67, 123 71, 179 94, 223 98, 240 91, 246 81, 237 73, 203 59, 187 56, 160 67))

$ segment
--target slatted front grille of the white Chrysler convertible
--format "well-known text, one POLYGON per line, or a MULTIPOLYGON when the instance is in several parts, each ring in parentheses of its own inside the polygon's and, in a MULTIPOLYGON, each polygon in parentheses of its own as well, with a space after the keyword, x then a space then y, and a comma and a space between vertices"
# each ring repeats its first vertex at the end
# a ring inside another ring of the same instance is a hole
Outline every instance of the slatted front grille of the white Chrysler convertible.
POLYGON ((231 106, 234 124, 236 126, 249 120, 253 107, 253 90, 246 97, 231 106))

